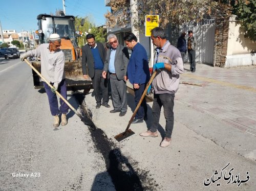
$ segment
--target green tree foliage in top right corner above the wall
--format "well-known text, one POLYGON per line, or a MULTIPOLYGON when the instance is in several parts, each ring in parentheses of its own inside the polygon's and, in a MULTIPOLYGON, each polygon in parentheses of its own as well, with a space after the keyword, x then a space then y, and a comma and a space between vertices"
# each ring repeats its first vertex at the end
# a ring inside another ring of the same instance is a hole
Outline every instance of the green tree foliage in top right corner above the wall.
POLYGON ((256 0, 238 0, 234 5, 233 13, 241 22, 244 36, 256 41, 256 0))

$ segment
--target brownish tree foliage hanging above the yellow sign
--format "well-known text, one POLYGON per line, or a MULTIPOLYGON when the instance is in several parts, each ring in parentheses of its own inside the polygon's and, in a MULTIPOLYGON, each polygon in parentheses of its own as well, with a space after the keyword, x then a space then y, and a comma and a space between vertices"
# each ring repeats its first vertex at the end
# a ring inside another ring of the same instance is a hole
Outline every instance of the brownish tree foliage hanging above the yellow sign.
MULTIPOLYGON (((139 28, 145 21, 145 15, 159 15, 159 26, 165 28, 170 22, 173 25, 183 25, 188 22, 197 22, 204 17, 225 17, 230 15, 231 10, 228 4, 219 0, 138 0, 138 21, 134 26, 139 28)), ((112 12, 105 14, 106 25, 127 25, 131 21, 130 0, 111 1, 112 12)))

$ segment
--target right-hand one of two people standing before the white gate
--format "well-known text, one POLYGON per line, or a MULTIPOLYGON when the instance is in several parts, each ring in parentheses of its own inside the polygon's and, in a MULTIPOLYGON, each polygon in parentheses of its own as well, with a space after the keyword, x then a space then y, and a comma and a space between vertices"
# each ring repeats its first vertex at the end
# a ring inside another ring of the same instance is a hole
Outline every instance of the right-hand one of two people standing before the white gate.
POLYGON ((193 36, 193 31, 188 31, 187 53, 188 53, 188 59, 190 63, 190 71, 193 73, 196 71, 196 47, 197 47, 197 41, 193 36))

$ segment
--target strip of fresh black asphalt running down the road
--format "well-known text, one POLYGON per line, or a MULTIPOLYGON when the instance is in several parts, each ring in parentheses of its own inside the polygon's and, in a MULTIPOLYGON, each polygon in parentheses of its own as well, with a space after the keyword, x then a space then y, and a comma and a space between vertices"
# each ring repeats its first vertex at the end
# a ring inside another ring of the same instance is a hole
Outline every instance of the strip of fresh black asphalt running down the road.
MULTIPOLYGON (((107 172, 112 179, 115 189, 159 190, 160 186, 151 177, 152 175, 148 171, 140 169, 138 167, 139 162, 130 157, 125 157, 118 148, 118 145, 112 139, 109 139, 100 128, 94 125, 91 121, 91 111, 88 111, 83 104, 83 94, 74 93, 73 96, 81 105, 82 122, 89 126, 95 148, 104 158, 107 172)), ((101 184, 101 182, 98 181, 97 184, 101 184)), ((93 186, 95 186, 95 183, 93 186)))

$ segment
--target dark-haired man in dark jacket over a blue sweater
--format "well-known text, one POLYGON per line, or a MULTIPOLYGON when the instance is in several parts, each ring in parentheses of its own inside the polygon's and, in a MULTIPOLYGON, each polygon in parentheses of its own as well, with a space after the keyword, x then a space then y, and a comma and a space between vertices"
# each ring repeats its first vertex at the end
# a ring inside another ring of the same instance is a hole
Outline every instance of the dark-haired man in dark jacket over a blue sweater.
POLYGON ((86 36, 88 44, 82 47, 82 73, 83 78, 92 79, 96 109, 99 109, 102 105, 110 107, 108 104, 108 81, 102 77, 102 71, 104 67, 104 61, 106 58, 106 51, 102 43, 95 42, 93 34, 86 36), (89 74, 89 77, 88 77, 89 74))

